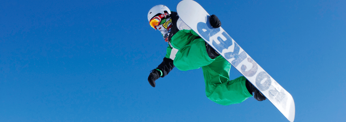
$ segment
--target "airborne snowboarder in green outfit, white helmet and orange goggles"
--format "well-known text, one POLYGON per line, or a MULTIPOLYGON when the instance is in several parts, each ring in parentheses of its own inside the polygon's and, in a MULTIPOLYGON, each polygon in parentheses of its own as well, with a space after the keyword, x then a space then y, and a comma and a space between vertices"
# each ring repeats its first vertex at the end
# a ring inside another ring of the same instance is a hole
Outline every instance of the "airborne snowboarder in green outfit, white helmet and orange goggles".
MULTIPOLYGON (((168 75, 174 67, 182 71, 202 67, 206 95, 210 100, 229 105, 251 96, 258 101, 266 99, 244 76, 229 80, 231 65, 191 30, 177 12, 170 11, 165 5, 156 5, 149 10, 148 21, 168 43, 163 62, 149 74, 148 81, 152 87, 155 87, 155 80, 168 75)), ((216 15, 211 15, 209 21, 214 28, 221 26, 216 15)))

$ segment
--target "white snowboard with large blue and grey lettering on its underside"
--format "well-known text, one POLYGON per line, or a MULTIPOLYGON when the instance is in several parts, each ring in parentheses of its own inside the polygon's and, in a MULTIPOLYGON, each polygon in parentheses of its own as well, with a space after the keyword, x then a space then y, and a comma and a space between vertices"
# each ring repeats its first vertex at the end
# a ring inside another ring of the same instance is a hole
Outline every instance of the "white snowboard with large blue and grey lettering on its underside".
POLYGON ((222 27, 211 27, 210 15, 200 4, 193 0, 183 0, 176 10, 186 25, 243 74, 289 121, 294 121, 295 106, 291 94, 264 71, 222 27))

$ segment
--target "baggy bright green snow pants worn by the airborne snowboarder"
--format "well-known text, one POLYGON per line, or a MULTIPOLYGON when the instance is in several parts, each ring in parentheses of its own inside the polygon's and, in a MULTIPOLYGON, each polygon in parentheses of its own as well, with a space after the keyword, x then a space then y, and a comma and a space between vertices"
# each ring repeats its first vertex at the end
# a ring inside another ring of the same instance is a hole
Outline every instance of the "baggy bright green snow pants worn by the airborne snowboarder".
POLYGON ((180 48, 173 64, 183 71, 202 67, 206 95, 218 104, 225 106, 236 104, 252 96, 246 89, 246 78, 241 76, 229 80, 231 65, 221 55, 211 59, 202 38, 195 39, 180 48))

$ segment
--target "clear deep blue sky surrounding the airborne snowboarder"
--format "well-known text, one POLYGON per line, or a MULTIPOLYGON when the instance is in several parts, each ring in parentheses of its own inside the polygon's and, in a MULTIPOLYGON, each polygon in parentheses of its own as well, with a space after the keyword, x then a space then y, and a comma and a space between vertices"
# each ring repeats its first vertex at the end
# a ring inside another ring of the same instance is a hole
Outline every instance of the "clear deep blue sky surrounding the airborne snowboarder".
MULTIPOLYGON (((346 121, 345 0, 196 1, 291 93, 295 122, 346 121)), ((177 3, 1 1, 0 121, 288 122, 268 100, 210 101, 201 68, 149 85, 167 43, 147 12, 177 3)))

